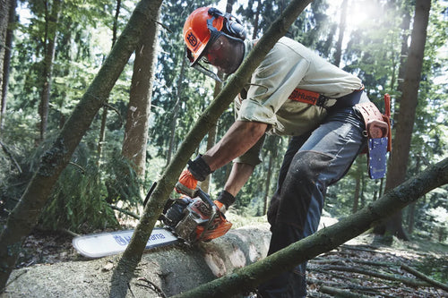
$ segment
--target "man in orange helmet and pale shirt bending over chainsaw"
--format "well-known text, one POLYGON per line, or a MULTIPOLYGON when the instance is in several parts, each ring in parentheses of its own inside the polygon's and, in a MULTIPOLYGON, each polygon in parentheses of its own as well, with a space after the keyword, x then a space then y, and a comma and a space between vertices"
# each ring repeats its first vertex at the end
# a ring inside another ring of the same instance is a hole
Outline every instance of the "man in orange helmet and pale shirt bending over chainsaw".
MULTIPOLYGON (((214 8, 185 21, 191 65, 203 62, 236 72, 256 41, 237 19, 214 8)), ((271 198, 269 254, 317 230, 328 185, 337 182, 365 147, 365 124, 354 106, 369 103, 362 82, 290 38, 280 38, 235 99, 237 120, 224 137, 189 162, 179 183, 194 189, 213 171, 235 162, 215 200, 222 212, 235 201, 254 166, 266 132, 292 136, 271 198)), ((306 296, 306 264, 260 285, 259 296, 306 296)))

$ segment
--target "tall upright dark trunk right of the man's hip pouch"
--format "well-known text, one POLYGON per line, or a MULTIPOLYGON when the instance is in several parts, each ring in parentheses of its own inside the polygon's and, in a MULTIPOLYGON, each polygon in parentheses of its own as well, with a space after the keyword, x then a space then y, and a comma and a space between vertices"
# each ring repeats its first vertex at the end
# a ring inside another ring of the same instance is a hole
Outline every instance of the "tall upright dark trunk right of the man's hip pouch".
MULTIPOLYGON (((406 178, 410 140, 412 138, 412 130, 418 104, 418 86, 421 80, 421 69, 425 52, 426 29, 430 7, 430 0, 417 0, 416 2, 409 57, 403 81, 400 113, 397 115, 395 138, 392 146, 392 160, 388 167, 389 173, 386 179, 386 191, 399 185, 406 178)), ((375 233, 380 232, 380 234, 397 236, 400 239, 408 240, 408 235, 404 232, 402 226, 401 217, 400 210, 386 223, 385 226, 375 229, 375 233)))

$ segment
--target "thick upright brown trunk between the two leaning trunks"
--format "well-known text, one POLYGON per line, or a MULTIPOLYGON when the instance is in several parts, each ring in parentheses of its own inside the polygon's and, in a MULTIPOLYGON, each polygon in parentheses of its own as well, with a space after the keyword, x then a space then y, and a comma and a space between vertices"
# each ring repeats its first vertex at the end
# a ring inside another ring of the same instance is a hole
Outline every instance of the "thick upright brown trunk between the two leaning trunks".
MULTIPOLYGON (((159 15, 159 13, 157 13, 159 15)), ((144 29, 135 50, 134 72, 126 116, 122 154, 134 162, 137 175, 144 177, 148 141, 151 92, 157 57, 158 25, 151 22, 144 29)))

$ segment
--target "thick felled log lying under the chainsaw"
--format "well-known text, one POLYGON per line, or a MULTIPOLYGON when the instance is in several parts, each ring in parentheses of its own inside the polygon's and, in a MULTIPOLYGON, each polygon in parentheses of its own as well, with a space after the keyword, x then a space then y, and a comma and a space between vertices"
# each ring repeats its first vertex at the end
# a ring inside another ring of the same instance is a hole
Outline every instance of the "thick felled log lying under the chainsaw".
MULTIPOLYGON (((127 296, 169 297, 232 273, 263 259, 270 237, 268 225, 250 226, 232 229, 210 243, 147 251, 127 296)), ((119 257, 89 261, 80 257, 80 261, 13 270, 0 297, 108 297, 112 267, 119 257)))

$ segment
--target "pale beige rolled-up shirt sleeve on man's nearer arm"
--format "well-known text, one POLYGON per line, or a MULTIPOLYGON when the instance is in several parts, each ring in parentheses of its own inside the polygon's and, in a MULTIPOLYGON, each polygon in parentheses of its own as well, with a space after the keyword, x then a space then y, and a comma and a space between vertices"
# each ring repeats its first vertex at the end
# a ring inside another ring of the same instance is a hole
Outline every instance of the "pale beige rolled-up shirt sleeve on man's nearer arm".
POLYGON ((280 128, 275 114, 303 79, 309 65, 310 62, 294 49, 277 43, 254 71, 237 120, 267 123, 280 128))

